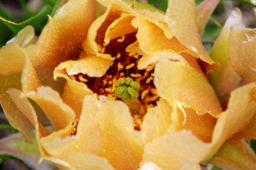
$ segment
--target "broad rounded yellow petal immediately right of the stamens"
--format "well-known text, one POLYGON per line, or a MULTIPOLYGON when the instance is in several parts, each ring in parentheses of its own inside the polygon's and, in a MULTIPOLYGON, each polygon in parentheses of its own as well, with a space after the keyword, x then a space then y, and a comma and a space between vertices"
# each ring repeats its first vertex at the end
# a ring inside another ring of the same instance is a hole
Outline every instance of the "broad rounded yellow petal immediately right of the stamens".
POLYGON ((166 55, 181 59, 162 60, 157 63, 154 84, 159 96, 170 105, 177 100, 184 107, 194 109, 198 115, 208 112, 217 116, 222 112, 218 98, 203 72, 193 69, 179 55, 173 53, 166 53, 166 55))

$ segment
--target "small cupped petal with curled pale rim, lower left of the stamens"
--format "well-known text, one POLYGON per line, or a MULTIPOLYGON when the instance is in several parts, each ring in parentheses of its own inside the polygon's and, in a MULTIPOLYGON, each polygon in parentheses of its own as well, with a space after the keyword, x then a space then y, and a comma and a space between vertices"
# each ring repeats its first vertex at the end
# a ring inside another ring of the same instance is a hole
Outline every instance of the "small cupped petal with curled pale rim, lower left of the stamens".
POLYGON ((41 107, 56 130, 66 128, 75 120, 75 112, 64 104, 59 93, 52 88, 42 86, 37 89, 37 92, 26 93, 26 96, 41 107))

